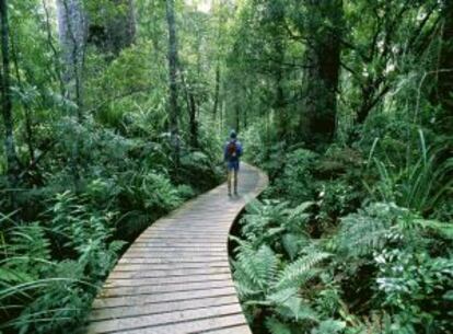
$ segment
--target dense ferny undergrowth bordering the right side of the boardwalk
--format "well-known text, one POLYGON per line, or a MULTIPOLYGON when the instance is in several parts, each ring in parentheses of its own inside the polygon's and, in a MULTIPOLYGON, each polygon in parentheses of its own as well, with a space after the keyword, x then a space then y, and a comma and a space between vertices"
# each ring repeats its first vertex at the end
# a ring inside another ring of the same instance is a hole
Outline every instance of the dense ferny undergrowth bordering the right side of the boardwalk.
POLYGON ((403 158, 379 139, 251 157, 272 176, 232 238, 254 333, 452 333, 452 161, 417 134, 403 158))

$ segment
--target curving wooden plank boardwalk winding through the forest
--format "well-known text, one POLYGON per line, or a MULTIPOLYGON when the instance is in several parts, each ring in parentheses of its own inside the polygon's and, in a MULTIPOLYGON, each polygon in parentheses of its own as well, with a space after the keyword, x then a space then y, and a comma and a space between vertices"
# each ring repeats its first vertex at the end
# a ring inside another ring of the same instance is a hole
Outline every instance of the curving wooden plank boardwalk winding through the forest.
POLYGON ((266 186, 264 173, 242 164, 239 197, 228 198, 223 184, 154 222, 111 273, 88 333, 251 334, 231 278, 228 234, 266 186))

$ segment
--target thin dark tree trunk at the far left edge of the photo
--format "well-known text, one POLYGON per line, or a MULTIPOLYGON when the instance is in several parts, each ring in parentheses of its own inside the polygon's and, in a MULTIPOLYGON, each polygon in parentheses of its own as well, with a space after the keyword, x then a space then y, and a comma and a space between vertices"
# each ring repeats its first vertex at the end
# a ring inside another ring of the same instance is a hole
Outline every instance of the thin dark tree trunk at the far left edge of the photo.
MULTIPOLYGON (((2 96, 2 116, 4 123, 4 150, 8 163, 8 178, 10 187, 14 189, 18 185, 18 175, 20 172, 19 159, 14 143, 14 124, 12 117, 11 101, 11 77, 10 77, 10 45, 9 45, 9 22, 8 22, 8 3, 7 0, 0 0, 0 20, 1 20, 1 54, 3 71, 1 76, 1 96, 2 96)), ((12 195, 12 205, 15 206, 14 196, 12 195)))

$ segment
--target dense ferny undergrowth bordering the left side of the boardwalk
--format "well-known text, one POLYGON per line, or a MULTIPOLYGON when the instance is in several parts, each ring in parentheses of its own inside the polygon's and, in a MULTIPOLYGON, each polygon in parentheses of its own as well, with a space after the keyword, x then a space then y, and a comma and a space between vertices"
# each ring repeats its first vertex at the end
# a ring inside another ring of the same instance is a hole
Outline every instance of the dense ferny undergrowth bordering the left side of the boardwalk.
POLYGON ((133 124, 120 135, 90 119, 74 134, 73 125, 58 125, 63 140, 44 158, 43 184, 15 198, 21 209, 0 200, 0 333, 78 333, 127 245, 221 180, 217 157, 205 152, 216 140, 183 147, 176 170, 165 136, 149 141, 136 137, 133 124), (76 185, 63 157, 80 135, 76 185))

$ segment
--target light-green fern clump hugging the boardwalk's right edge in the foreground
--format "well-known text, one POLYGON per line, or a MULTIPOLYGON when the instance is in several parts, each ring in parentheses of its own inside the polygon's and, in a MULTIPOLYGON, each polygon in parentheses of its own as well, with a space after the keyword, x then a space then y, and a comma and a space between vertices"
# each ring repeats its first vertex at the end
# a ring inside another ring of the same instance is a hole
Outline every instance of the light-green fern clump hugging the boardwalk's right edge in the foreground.
POLYGON ((246 240, 233 238, 239 243, 233 276, 240 298, 249 320, 263 312, 275 314, 265 321, 270 333, 298 333, 298 325, 309 329, 318 321, 299 292, 318 278, 330 256, 307 239, 311 215, 305 211, 312 205, 289 208, 288 203, 255 201, 242 221, 246 240))

